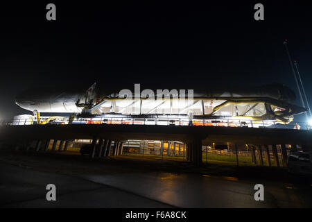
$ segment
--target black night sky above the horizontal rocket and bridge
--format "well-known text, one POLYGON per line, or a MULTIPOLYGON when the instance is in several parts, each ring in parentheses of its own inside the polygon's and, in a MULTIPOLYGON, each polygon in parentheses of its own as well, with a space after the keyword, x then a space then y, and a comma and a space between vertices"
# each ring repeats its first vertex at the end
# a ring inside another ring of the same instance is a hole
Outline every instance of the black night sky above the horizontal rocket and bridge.
POLYGON ((15 96, 38 86, 283 83, 297 94, 285 39, 312 105, 311 1, 100 2, 1 3, 0 119, 27 113, 15 96), (47 3, 55 3, 56 21, 46 20, 47 3), (264 21, 254 20, 256 3, 264 21))

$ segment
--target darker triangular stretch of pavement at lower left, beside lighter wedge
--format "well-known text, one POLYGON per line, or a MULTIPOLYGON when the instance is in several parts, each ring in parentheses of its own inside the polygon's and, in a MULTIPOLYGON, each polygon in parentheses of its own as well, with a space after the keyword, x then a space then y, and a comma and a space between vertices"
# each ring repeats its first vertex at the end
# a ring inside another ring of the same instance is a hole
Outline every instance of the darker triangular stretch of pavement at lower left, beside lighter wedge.
POLYGON ((42 173, 0 162, 0 207, 171 207, 81 178, 42 173), (53 183, 57 200, 46 200, 53 183))

